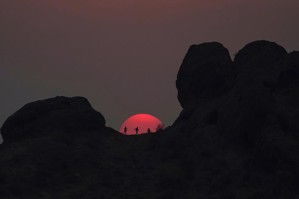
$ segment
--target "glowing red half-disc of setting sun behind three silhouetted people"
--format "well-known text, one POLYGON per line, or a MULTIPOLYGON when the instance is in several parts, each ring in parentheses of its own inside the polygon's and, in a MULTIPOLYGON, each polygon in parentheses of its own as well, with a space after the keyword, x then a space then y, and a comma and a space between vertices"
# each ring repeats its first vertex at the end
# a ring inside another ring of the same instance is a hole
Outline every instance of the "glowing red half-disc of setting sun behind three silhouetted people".
POLYGON ((119 132, 123 133, 125 127, 127 127, 127 135, 133 135, 136 134, 136 131, 134 130, 136 127, 138 127, 139 132, 146 133, 148 128, 151 132, 156 131, 156 127, 158 124, 162 123, 158 118, 149 115, 149 114, 137 114, 133 115, 130 118, 128 118, 122 125, 119 130, 119 132))

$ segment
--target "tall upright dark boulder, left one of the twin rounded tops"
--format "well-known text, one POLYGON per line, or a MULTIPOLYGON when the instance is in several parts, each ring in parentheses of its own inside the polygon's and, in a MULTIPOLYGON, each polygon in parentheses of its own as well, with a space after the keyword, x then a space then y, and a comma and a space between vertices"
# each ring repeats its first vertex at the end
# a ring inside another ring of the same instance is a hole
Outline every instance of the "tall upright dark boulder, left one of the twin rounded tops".
POLYGON ((178 71, 178 101, 184 108, 196 98, 218 97, 233 84, 233 62, 218 42, 190 46, 178 71))

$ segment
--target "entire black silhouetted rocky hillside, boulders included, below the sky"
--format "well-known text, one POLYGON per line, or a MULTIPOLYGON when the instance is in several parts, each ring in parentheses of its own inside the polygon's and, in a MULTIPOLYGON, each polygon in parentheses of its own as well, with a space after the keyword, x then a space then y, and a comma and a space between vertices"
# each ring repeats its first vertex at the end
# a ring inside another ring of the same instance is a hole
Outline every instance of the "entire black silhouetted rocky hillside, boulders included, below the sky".
POLYGON ((299 52, 192 45, 183 111, 125 136, 83 97, 26 104, 1 128, 0 198, 299 198, 299 52))

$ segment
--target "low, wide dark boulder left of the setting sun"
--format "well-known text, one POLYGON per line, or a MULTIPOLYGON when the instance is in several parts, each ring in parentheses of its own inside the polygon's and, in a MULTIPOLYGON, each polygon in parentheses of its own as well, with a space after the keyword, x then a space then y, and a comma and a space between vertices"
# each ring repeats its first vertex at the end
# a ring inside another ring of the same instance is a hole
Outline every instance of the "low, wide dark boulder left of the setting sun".
POLYGON ((88 132, 105 126, 105 118, 84 97, 60 97, 26 104, 1 127, 4 142, 88 132))

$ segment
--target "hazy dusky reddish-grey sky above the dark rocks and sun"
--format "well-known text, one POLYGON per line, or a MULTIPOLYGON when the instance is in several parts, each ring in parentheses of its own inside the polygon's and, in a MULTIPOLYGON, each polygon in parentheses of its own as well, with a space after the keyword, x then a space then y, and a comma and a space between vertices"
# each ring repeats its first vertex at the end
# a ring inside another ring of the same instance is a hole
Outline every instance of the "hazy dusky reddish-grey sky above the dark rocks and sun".
MULTIPOLYGON (((0 125, 31 101, 84 96, 118 130, 130 116, 171 125, 191 44, 238 52, 260 39, 299 50, 298 0, 6 0, 0 6, 0 125)), ((0 138, 0 142, 2 138, 0 138)))

